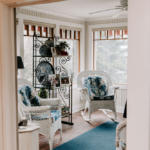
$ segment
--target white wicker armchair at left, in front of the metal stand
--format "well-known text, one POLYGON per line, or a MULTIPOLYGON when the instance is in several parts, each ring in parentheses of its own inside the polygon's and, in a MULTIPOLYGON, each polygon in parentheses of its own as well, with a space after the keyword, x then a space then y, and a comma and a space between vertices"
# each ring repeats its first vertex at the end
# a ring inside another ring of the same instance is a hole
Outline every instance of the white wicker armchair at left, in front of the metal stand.
POLYGON ((30 122, 39 124, 39 133, 49 138, 50 150, 52 150, 53 136, 58 129, 60 130, 60 138, 62 139, 62 124, 61 116, 56 121, 52 121, 50 110, 55 108, 61 111, 61 101, 58 98, 41 99, 35 92, 30 82, 22 78, 18 79, 18 88, 24 85, 27 85, 32 89, 32 92, 34 92, 36 97, 38 97, 42 106, 25 106, 21 100, 20 94, 18 94, 19 115, 21 118, 27 117, 30 122), (46 115, 45 120, 37 119, 37 117, 42 117, 43 115, 46 115))

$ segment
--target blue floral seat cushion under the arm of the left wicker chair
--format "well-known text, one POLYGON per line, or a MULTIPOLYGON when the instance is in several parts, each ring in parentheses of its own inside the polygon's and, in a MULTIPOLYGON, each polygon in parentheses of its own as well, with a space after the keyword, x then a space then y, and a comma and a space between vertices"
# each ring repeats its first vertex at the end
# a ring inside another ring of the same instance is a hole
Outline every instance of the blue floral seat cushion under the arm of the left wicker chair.
MULTIPOLYGON (((61 111, 60 110, 51 110, 51 119, 52 122, 55 122, 59 117, 61 117, 61 111)), ((43 115, 34 115, 31 114, 31 119, 32 120, 47 120, 48 119, 48 115, 47 114, 43 114, 43 115)))

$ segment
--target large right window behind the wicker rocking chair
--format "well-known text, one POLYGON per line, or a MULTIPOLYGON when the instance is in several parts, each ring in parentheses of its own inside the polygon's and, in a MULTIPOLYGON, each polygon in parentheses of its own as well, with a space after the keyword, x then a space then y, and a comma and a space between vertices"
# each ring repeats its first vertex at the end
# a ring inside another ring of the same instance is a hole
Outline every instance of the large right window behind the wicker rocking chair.
POLYGON ((93 32, 94 69, 107 72, 113 83, 127 83, 127 30, 93 32))

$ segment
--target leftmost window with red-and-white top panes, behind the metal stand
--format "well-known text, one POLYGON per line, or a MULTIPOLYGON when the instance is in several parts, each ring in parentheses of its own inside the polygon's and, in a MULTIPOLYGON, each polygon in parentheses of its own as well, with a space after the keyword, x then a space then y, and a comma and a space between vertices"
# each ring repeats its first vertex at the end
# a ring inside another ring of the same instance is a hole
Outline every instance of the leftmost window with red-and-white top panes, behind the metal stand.
MULTIPOLYGON (((53 28, 24 25, 24 78, 32 83, 33 80, 33 35, 38 34, 44 40, 53 36, 53 28)), ((42 39, 42 40, 43 40, 42 39)))

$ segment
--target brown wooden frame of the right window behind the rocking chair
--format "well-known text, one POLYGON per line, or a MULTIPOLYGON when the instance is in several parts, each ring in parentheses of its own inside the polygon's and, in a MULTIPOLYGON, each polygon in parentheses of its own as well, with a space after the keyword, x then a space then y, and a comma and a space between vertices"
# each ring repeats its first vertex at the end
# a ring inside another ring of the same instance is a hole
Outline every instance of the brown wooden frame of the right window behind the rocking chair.
MULTIPOLYGON (((112 39, 108 38, 108 32, 110 30, 107 30, 107 39, 102 39, 101 38, 101 36, 102 36, 101 32, 102 31, 99 31, 100 32, 100 39, 95 39, 95 32, 96 31, 93 31, 93 70, 96 69, 96 67, 95 67, 95 64, 96 64, 95 63, 96 62, 96 59, 95 59, 95 41, 100 41, 100 40, 127 40, 128 38, 124 38, 124 30, 127 30, 127 29, 121 29, 121 30, 122 30, 122 37, 121 38, 116 38, 115 37, 117 30, 111 30, 111 31, 114 31, 114 38, 112 38, 112 39)), ((127 30, 127 35, 128 35, 128 30, 127 30)), ((113 84, 115 84, 115 85, 127 85, 125 83, 113 83, 113 84)))

